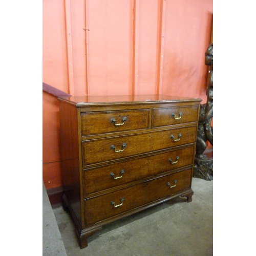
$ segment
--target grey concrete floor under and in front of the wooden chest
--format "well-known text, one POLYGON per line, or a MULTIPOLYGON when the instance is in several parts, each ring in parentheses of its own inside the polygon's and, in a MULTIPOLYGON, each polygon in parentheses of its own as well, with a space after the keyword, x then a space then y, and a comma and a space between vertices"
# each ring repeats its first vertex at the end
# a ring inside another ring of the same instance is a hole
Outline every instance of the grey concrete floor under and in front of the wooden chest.
POLYGON ((80 249, 73 222, 53 209, 68 256, 213 255, 213 181, 193 178, 192 202, 176 198, 102 227, 80 249))

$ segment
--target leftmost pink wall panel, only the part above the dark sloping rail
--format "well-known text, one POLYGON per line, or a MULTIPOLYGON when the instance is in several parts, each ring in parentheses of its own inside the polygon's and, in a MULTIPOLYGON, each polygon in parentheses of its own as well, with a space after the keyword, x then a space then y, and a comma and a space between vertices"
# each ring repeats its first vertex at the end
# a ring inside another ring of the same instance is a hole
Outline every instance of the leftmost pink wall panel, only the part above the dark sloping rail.
POLYGON ((68 92, 64 1, 44 0, 42 11, 43 81, 68 92))

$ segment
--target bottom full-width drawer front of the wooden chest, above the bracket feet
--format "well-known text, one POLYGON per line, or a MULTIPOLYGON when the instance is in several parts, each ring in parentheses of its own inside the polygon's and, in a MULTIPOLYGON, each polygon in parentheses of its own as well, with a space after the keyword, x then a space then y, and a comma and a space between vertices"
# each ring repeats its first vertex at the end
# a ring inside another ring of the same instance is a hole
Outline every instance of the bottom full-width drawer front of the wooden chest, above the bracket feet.
POLYGON ((96 223, 190 187, 192 169, 86 200, 86 223, 96 223))

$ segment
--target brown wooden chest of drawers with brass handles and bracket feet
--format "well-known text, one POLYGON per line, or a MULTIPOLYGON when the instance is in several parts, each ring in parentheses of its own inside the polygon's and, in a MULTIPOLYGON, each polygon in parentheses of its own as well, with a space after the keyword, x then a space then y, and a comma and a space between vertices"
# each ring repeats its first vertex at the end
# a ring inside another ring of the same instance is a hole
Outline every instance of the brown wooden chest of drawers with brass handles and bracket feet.
POLYGON ((191 201, 201 99, 59 97, 63 206, 80 248, 109 222, 166 200, 191 201))

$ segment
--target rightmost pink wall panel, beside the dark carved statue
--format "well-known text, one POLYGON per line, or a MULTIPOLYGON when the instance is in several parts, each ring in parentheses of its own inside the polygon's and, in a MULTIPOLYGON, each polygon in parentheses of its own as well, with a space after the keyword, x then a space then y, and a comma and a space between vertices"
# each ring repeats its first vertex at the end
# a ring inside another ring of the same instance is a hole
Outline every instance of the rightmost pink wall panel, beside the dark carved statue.
POLYGON ((166 1, 163 94, 206 101, 204 53, 211 22, 212 1, 166 1))

